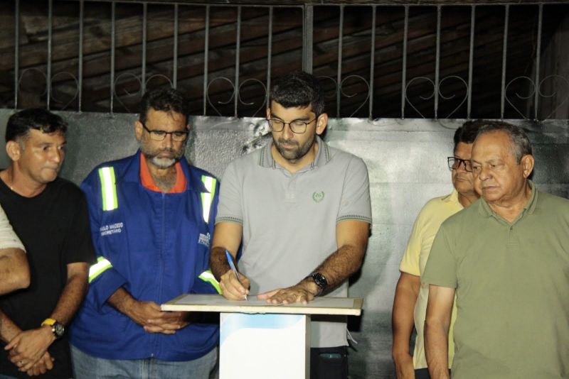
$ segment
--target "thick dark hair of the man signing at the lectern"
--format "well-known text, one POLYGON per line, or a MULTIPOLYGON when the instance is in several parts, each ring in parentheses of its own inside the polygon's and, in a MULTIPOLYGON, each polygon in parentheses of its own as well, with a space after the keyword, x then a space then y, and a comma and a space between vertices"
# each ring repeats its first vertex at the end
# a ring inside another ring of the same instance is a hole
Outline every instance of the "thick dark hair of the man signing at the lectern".
POLYGON ((285 108, 307 108, 317 116, 324 113, 324 89, 317 77, 304 71, 289 72, 275 81, 269 95, 269 107, 272 101, 285 108))

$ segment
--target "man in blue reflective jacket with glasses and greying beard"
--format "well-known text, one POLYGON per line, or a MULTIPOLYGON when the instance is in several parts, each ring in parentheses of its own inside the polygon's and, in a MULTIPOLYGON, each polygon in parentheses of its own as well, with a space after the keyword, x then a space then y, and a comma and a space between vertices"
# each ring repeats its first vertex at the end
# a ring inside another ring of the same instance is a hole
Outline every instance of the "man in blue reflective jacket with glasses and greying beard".
POLYGON ((159 306, 218 292, 208 271, 218 182, 184 159, 188 130, 179 92, 147 92, 140 150, 81 185, 98 259, 71 331, 75 378, 208 378, 216 364, 217 324, 159 306))

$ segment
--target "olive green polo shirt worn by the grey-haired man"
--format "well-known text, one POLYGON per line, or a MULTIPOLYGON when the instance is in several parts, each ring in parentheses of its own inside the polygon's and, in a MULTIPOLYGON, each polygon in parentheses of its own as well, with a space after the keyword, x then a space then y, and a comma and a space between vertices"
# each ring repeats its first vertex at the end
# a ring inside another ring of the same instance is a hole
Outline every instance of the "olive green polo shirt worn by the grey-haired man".
POLYGON ((435 237, 421 279, 457 291, 452 378, 569 375, 569 201, 530 185, 511 224, 479 199, 435 237))

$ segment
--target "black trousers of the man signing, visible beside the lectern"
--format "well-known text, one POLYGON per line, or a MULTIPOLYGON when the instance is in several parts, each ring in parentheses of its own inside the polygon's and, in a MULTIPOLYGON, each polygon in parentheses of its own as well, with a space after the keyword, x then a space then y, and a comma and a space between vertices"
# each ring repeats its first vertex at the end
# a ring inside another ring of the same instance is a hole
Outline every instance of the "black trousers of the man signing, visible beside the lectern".
POLYGON ((310 349, 310 379, 347 379, 348 346, 310 349))

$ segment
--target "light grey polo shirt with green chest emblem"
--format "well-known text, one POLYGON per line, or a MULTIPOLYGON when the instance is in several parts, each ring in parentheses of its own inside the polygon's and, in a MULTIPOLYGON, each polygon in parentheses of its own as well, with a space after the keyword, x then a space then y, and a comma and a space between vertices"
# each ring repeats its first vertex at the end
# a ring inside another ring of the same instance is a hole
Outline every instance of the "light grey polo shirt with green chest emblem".
MULTIPOLYGON (((239 269, 250 293, 296 284, 334 253, 336 224, 371 224, 368 170, 361 158, 317 137, 314 161, 291 174, 272 159, 267 143, 230 163, 223 174, 216 223, 243 225, 239 269)), ((346 297, 348 285, 328 296, 346 297)), ((344 346, 346 319, 312 320, 312 347, 344 346), (337 321, 336 321, 337 320, 337 321)))

